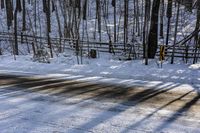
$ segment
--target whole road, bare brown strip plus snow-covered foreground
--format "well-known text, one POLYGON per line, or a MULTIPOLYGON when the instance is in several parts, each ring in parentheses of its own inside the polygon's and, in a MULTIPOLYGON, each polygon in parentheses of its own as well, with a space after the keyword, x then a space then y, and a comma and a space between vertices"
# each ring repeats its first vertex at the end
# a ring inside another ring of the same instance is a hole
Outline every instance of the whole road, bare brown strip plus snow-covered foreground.
POLYGON ((0 132, 200 132, 200 94, 176 83, 0 75, 0 132))

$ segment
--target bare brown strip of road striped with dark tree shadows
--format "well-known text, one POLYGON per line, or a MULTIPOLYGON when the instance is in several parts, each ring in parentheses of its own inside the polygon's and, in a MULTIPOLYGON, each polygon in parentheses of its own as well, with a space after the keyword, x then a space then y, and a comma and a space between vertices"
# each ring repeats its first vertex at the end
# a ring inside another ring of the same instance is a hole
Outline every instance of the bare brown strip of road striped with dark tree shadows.
MULTIPOLYGON (((46 100, 59 103, 59 101, 65 99, 76 98, 79 100, 70 104, 76 105, 83 101, 93 100, 100 103, 115 103, 126 107, 125 109, 109 108, 108 111, 111 112, 123 112, 130 107, 153 108, 153 112, 147 113, 147 118, 152 117, 161 110, 167 110, 172 112, 172 115, 162 115, 162 119, 166 123, 177 122, 195 128, 200 126, 200 94, 195 89, 176 91, 178 85, 168 85, 160 88, 158 85, 150 88, 39 76, 0 75, 0 87, 0 90, 3 89, 9 92, 8 97, 20 97, 20 95, 36 93, 48 95, 48 98, 35 98, 33 99, 35 101, 46 100), (26 93, 10 94, 10 92, 15 91, 26 93), (56 97, 56 100, 54 97, 56 97)), ((0 95, 7 91, 1 91, 0 95)), ((145 114, 145 110, 143 113, 145 114)), ((139 114, 142 113, 139 112, 139 114)), ((159 128, 162 128, 162 126, 160 125, 159 128)))

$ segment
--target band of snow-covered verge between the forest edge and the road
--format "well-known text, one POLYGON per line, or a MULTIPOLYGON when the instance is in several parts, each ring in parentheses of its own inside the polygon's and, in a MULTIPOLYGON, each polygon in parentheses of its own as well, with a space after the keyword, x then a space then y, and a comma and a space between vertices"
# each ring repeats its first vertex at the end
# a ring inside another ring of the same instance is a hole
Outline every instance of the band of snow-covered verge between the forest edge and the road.
POLYGON ((14 61, 12 56, 0 56, 0 70, 19 71, 35 74, 76 74, 121 79, 139 79, 147 81, 179 82, 186 84, 200 83, 200 63, 191 65, 168 62, 159 68, 156 60, 145 66, 142 60, 119 61, 111 55, 102 54, 98 59, 84 59, 83 65, 77 65, 73 54, 61 55, 51 60, 51 64, 33 62, 31 56, 19 56, 14 61))

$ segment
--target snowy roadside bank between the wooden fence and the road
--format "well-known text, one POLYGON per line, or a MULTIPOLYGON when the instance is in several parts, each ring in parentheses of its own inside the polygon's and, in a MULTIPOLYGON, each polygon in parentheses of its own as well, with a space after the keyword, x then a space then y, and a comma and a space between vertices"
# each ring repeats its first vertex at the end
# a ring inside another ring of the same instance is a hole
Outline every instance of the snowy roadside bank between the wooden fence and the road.
POLYGON ((142 60, 119 61, 109 54, 101 56, 98 59, 84 58, 84 64, 78 65, 73 54, 60 55, 51 59, 50 64, 33 62, 30 55, 17 56, 17 60, 10 55, 3 55, 0 56, 0 73, 154 88, 159 84, 163 84, 161 88, 178 85, 173 91, 193 88, 200 91, 200 63, 189 65, 179 62, 172 65, 165 62, 163 68, 159 68, 155 60, 145 66, 142 60))

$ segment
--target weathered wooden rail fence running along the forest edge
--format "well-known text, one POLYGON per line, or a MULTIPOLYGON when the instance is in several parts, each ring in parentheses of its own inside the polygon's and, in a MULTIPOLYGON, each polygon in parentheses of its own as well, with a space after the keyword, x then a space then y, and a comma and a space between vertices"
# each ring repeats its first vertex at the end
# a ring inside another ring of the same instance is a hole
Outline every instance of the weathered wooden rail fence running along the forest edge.
MULTIPOLYGON (((39 37, 32 35, 18 35, 17 40, 20 43, 27 44, 42 44, 47 46, 48 41, 47 37, 39 37)), ((0 41, 10 41, 14 42, 14 34, 13 33, 5 33, 0 32, 0 41)), ((51 44, 53 48, 61 47, 62 49, 71 49, 76 50, 77 39, 72 38, 51 38, 51 44)), ((137 58, 142 58, 143 56, 143 47, 140 44, 126 44, 126 49, 124 49, 123 43, 109 43, 109 42, 96 42, 96 41, 79 41, 78 49, 82 49, 83 51, 90 51, 91 49, 95 49, 98 52, 114 52, 114 53, 124 53, 129 56, 137 56, 137 58), (112 47, 110 47, 112 46, 112 47)), ((156 55, 159 56, 159 49, 157 50, 156 55)), ((165 53, 166 57, 171 57, 173 53, 173 47, 167 47, 167 52, 165 53)), ((198 52, 195 52, 195 47, 185 47, 175 46, 174 57, 177 58, 199 58, 200 57, 200 48, 198 48, 198 52), (196 54, 196 55, 195 55, 196 54)))

